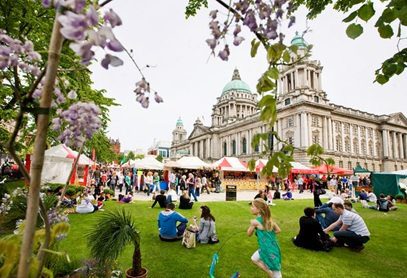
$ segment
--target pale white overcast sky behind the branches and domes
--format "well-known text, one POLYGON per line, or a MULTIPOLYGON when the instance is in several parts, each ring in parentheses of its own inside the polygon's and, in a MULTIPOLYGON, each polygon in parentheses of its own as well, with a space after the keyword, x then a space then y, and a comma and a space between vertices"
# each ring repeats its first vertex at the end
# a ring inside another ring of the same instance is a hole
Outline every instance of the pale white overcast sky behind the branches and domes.
MULTIPOLYGON (((121 67, 106 71, 100 65, 92 66, 94 87, 106 89, 107 96, 120 104, 111 108, 108 136, 120 140, 122 151, 146 150, 154 140, 171 141, 179 117, 188 135, 198 117, 209 126, 212 106, 235 68, 254 92, 266 69, 265 54, 259 51, 255 58, 250 57, 253 37, 244 27, 246 40, 239 47, 232 45, 232 36, 227 38, 231 45, 228 62, 211 56, 205 42, 210 37, 208 14, 212 9, 222 11, 222 7, 209 2, 208 9, 189 19, 184 15, 187 0, 114 0, 109 4, 123 21, 115 28, 117 38, 133 50, 151 87, 164 99, 161 104, 151 101, 148 109, 136 102, 133 90, 141 76, 124 53, 119 55, 124 60, 121 67)), ((332 103, 377 115, 407 115, 406 72, 385 85, 373 83, 374 71, 396 52, 396 39, 381 39, 373 26, 374 18, 364 24, 365 32, 352 40, 342 22, 346 15, 329 9, 309 21, 305 14, 305 10, 299 11, 296 24, 285 32, 285 42, 291 41, 295 31, 309 27, 311 32, 304 38, 314 46, 312 59, 323 66, 322 88, 332 103)))

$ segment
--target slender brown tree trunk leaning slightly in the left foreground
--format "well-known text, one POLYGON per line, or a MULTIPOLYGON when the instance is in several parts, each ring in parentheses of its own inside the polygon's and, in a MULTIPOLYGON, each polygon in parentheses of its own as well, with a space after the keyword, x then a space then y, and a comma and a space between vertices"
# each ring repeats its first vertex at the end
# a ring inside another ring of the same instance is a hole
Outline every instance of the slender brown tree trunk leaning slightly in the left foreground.
POLYGON ((44 152, 49 123, 48 113, 51 106, 52 94, 54 91, 55 78, 57 75, 63 42, 63 37, 60 33, 61 25, 57 20, 58 16, 59 13, 57 12, 51 35, 51 42, 48 52, 47 72, 45 76, 45 84, 42 90, 40 110, 37 120, 37 133, 34 142, 31 181, 28 192, 27 212, 25 217, 25 229, 20 250, 20 261, 18 265, 19 278, 25 278, 29 275, 30 260, 32 255, 32 242, 34 238, 35 226, 39 210, 41 172, 44 163, 44 152))

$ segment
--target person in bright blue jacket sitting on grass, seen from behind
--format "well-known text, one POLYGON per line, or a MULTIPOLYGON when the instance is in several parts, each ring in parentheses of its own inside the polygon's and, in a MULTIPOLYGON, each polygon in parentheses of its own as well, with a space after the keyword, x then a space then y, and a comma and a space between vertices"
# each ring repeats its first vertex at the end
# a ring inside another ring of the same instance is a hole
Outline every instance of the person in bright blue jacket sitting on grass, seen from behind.
POLYGON ((188 219, 174 211, 173 203, 167 204, 164 211, 158 215, 159 237, 162 241, 181 240, 188 219), (177 226, 177 222, 180 224, 177 226))

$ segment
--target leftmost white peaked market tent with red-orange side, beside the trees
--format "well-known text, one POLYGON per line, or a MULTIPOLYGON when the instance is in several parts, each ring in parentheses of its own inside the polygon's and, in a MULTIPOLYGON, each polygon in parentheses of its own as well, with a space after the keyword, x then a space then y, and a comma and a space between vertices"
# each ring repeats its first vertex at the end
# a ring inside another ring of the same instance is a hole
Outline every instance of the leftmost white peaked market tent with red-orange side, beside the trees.
MULTIPOLYGON (((78 152, 64 144, 46 150, 41 182, 65 183, 77 156, 78 152)), ((88 182, 89 166, 92 164, 93 161, 89 157, 81 154, 77 169, 74 171, 70 183, 74 184, 75 182, 79 182, 81 185, 86 185, 88 182)))

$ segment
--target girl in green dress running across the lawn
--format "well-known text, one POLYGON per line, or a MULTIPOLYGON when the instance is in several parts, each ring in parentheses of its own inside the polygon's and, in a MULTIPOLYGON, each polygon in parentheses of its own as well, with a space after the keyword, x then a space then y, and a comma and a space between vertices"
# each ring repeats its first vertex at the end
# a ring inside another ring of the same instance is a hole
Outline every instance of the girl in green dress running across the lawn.
POLYGON ((269 277, 280 278, 281 276, 281 253, 276 239, 276 234, 281 230, 270 216, 270 209, 261 198, 252 202, 251 213, 256 219, 250 221, 247 235, 252 236, 256 231, 259 249, 254 252, 252 261, 264 270, 269 277))

